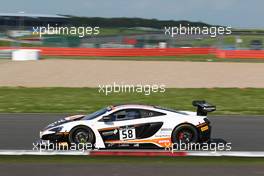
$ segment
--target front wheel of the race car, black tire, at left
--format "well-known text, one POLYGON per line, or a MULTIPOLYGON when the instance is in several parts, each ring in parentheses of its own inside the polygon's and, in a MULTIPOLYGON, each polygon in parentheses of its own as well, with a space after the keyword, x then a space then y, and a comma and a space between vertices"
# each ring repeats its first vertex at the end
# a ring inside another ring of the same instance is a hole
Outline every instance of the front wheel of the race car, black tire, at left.
POLYGON ((95 143, 95 136, 93 131, 85 126, 75 127, 70 131, 69 134, 69 143, 75 144, 94 144, 95 143))

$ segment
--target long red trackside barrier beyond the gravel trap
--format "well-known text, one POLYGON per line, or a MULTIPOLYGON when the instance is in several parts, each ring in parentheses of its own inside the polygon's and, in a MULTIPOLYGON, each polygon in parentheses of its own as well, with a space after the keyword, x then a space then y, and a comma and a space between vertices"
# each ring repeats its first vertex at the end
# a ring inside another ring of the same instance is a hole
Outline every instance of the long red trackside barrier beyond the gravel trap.
MULTIPOLYGON (((18 49, 0 47, 1 50, 18 49)), ((51 48, 22 47, 37 49, 42 56, 188 56, 212 54, 218 58, 264 59, 264 50, 221 50, 216 48, 51 48)))

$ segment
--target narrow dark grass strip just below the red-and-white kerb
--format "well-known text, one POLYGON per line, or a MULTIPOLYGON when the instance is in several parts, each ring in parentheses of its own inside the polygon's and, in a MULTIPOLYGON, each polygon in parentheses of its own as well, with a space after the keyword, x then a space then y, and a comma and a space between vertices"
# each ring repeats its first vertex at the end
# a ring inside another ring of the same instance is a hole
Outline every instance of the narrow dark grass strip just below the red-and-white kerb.
POLYGON ((264 158, 240 157, 87 157, 87 156, 1 156, 0 163, 90 163, 133 165, 263 165, 264 158), (139 162, 140 161, 140 162, 139 162))

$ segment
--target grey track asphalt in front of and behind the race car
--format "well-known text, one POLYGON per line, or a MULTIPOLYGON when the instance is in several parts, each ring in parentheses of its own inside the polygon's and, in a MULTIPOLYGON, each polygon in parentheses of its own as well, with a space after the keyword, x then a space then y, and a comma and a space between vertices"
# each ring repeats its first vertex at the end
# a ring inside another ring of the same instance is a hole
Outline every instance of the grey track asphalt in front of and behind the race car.
MULTIPOLYGON (((0 150, 31 150, 39 131, 69 114, 0 114, 0 150)), ((232 143, 232 151, 264 151, 264 116, 212 116, 212 138, 232 143)))

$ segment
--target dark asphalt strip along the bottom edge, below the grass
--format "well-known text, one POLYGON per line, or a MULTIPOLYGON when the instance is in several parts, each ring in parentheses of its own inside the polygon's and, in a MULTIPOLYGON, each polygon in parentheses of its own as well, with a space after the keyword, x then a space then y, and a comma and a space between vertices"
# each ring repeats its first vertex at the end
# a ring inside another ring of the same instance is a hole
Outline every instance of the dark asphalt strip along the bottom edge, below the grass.
POLYGON ((4 163, 0 170, 6 176, 159 176, 159 175, 185 175, 185 176, 260 176, 264 174, 263 166, 206 166, 206 165, 131 165, 131 164, 53 164, 53 163, 4 163), (14 169, 15 168, 15 169, 14 169))

